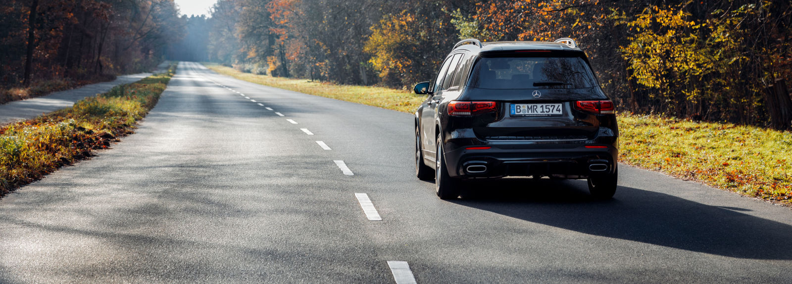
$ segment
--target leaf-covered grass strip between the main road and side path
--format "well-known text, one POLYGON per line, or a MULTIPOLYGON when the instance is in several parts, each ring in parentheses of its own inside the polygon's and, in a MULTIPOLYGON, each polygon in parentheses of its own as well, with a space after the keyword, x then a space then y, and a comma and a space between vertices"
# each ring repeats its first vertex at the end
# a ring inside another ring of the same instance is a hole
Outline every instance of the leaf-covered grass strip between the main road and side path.
POLYGON ((176 64, 171 64, 167 73, 118 85, 71 108, 0 128, 0 195, 131 134, 135 122, 157 104, 175 71, 176 64))

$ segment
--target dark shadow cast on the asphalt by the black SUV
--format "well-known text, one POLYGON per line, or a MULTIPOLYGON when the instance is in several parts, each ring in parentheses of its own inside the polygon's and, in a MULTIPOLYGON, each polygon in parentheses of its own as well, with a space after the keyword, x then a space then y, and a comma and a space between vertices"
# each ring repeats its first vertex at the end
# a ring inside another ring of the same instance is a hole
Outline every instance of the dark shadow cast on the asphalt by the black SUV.
POLYGON ((742 213, 747 209, 632 187, 600 201, 588 195, 584 180, 503 179, 471 188, 454 203, 596 236, 743 259, 792 259, 792 226, 742 213))

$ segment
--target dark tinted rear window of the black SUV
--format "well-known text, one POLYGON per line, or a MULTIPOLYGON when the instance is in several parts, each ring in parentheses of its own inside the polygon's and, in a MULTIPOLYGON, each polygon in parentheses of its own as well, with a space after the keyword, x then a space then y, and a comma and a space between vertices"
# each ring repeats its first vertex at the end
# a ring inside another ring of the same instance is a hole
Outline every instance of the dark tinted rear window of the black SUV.
POLYGON ((469 84, 480 89, 579 89, 597 85, 580 57, 482 57, 469 84))

